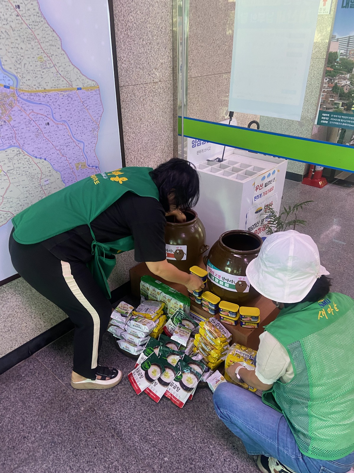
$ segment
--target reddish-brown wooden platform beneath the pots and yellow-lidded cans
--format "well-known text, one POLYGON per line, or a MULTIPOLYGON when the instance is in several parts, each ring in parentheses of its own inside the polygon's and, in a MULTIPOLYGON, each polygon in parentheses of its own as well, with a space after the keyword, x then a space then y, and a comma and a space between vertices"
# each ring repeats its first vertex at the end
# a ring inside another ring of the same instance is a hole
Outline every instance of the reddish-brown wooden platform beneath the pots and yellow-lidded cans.
MULTIPOLYGON (((161 278, 157 278, 157 276, 155 276, 154 274, 152 274, 152 272, 148 270, 145 263, 140 263, 130 270, 132 293, 135 296, 140 295, 140 278, 145 274, 148 274, 149 276, 152 276, 160 280, 161 282, 164 282, 173 289, 182 292, 182 294, 185 294, 185 296, 189 296, 185 286, 183 286, 182 284, 168 282, 161 278)), ((272 322, 277 317, 279 310, 274 306, 273 302, 270 299, 267 299, 263 296, 258 296, 253 301, 248 302, 247 305, 252 307, 258 307, 260 309, 261 323, 257 329, 243 328, 240 327, 239 324, 237 324, 236 327, 228 324, 223 325, 228 329, 230 333, 232 333, 232 343, 241 343, 246 347, 253 348, 253 350, 257 350, 259 345, 259 336, 264 331, 263 327, 272 322)), ((196 304, 193 300, 191 300, 191 310, 193 310, 199 315, 203 315, 204 317, 211 317, 208 312, 202 309, 202 306, 200 304, 196 304)), ((219 319, 219 315, 216 315, 216 318, 219 319)))

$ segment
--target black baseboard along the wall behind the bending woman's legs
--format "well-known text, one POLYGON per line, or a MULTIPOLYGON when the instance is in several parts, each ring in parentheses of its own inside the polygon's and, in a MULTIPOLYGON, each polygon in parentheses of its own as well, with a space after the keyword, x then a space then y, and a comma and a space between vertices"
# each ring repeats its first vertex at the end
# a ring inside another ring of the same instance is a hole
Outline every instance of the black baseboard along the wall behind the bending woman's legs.
MULTIPOLYGON (((122 284, 117 289, 111 292, 110 303, 112 306, 121 298, 129 294, 130 292, 130 281, 122 284)), ((32 340, 24 343, 23 345, 15 348, 6 355, 0 358, 0 375, 15 365, 24 361, 25 359, 32 356, 37 351, 41 350, 45 346, 54 342, 58 338, 62 337, 66 333, 70 332, 74 328, 74 324, 69 318, 66 318, 54 325, 45 332, 37 335, 32 340)))

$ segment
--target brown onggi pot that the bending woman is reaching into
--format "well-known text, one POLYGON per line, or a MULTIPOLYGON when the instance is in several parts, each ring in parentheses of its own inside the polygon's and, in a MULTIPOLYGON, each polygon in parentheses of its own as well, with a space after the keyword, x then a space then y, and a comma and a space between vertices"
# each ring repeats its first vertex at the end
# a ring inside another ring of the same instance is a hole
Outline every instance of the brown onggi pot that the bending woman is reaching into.
POLYGON ((202 254, 209 249, 205 245, 205 228, 194 210, 185 211, 186 221, 178 223, 167 217, 165 228, 166 257, 181 271, 199 264, 202 254))

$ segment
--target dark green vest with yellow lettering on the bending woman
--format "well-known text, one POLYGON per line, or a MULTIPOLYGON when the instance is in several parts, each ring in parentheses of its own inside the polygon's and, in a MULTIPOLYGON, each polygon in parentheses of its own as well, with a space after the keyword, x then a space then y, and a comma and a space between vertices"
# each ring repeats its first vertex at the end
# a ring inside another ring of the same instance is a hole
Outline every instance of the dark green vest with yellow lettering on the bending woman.
POLYGON ((110 243, 99 243, 90 223, 128 191, 159 200, 159 191, 150 171, 151 167, 125 167, 86 177, 48 195, 12 219, 13 237, 18 243, 31 245, 79 225, 88 225, 94 256, 88 267, 106 297, 110 298, 107 279, 116 264, 115 254, 132 250, 134 239, 127 236, 110 243))

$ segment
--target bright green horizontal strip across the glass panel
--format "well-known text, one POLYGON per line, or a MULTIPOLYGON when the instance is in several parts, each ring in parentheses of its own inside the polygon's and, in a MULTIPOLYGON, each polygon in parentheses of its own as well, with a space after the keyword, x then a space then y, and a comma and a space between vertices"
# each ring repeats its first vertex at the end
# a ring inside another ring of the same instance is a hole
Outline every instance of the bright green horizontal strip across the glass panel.
MULTIPOLYGON (((186 118, 184 136, 279 158, 354 172, 354 148, 325 141, 186 118)), ((181 117, 178 117, 181 134, 181 117)))

